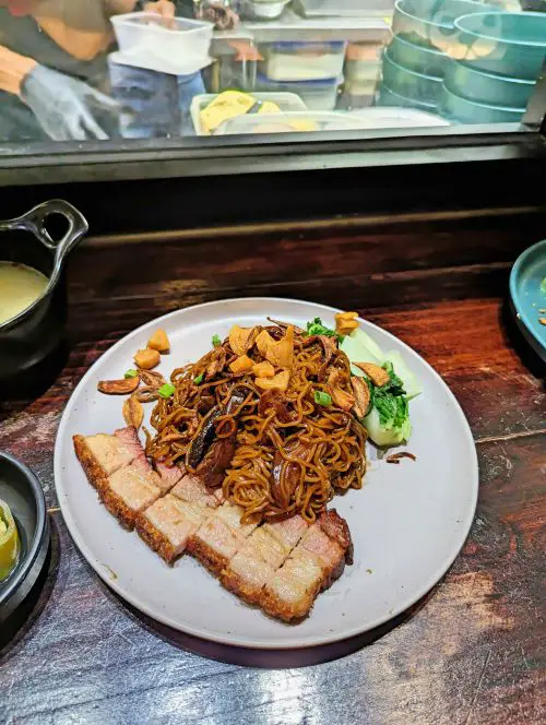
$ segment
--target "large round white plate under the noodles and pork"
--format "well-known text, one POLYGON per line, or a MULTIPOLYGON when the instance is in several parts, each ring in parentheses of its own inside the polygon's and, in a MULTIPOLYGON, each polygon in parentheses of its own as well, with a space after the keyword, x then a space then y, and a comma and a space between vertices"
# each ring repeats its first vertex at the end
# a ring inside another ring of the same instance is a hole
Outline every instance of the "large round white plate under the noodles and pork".
MULTIPOLYGON (((99 380, 132 367, 153 330, 165 328, 171 354, 166 376, 195 360, 214 334, 235 324, 263 323, 266 316, 304 325, 321 317, 333 325, 336 310, 277 298, 200 305, 154 320, 123 337, 95 362, 62 416, 55 448, 59 503, 70 533, 98 575, 146 615, 175 629, 238 646, 290 649, 325 644, 369 630, 400 614, 438 582, 466 538, 476 507, 478 470, 464 415, 441 378, 404 343, 376 325, 363 328, 388 349, 402 353, 424 393, 411 403, 417 456, 400 465, 373 461, 359 491, 332 503, 347 520, 355 563, 318 597, 304 622, 273 621, 225 592, 191 557, 167 567, 135 533, 127 533, 98 502, 73 448, 74 433, 112 432, 123 426, 122 401, 97 393, 99 380)), ((371 456, 372 452, 370 452, 371 456)))

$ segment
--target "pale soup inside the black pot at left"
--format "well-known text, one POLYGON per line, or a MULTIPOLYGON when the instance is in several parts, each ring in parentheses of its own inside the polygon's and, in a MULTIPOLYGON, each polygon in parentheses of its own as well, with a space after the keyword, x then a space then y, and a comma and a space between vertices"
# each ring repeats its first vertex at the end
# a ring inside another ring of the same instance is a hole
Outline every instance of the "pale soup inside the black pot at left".
POLYGON ((26 264, 0 261, 0 324, 16 317, 46 292, 49 280, 26 264))

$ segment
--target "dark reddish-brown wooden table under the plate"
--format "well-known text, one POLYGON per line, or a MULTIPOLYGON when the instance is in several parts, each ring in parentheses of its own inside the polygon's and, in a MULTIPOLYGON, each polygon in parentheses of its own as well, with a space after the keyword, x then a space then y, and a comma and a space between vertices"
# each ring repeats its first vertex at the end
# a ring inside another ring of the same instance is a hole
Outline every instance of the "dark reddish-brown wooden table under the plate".
POLYGON ((538 362, 520 346, 503 307, 511 263, 545 229, 543 210, 82 246, 70 269, 72 348, 64 369, 37 400, 0 407, 1 447, 40 476, 52 524, 48 570, 20 621, 0 633, 0 722, 546 722, 546 395, 538 362), (476 440, 479 504, 461 556, 412 611, 331 652, 337 658, 325 664, 298 668, 304 661, 295 655, 206 649, 158 628, 98 580, 57 508, 55 435, 83 372, 162 312, 238 295, 357 309, 442 375, 476 440), (258 667, 268 665, 285 668, 258 667))

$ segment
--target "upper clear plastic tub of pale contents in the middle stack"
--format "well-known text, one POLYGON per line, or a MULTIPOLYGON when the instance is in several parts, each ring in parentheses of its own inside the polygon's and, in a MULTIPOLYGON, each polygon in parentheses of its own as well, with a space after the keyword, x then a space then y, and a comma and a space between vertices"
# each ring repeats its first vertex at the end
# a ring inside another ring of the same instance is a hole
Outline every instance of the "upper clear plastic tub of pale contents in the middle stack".
POLYGON ((271 81, 324 81, 343 71, 345 43, 273 43, 260 48, 260 72, 271 81))

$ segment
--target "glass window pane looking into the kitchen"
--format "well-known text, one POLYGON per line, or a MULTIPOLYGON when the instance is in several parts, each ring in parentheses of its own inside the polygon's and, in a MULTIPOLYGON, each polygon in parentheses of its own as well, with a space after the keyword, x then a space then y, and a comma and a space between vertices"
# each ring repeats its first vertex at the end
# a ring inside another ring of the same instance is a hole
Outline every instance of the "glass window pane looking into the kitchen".
POLYGON ((0 0, 0 141, 519 123, 546 55, 545 11, 546 0, 0 0))

